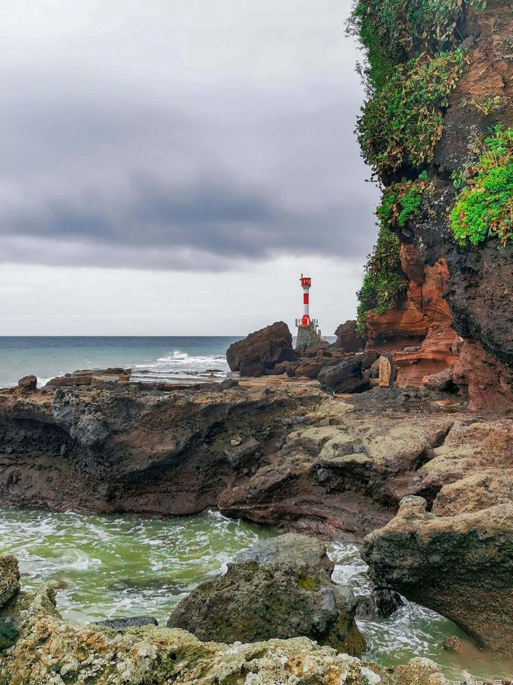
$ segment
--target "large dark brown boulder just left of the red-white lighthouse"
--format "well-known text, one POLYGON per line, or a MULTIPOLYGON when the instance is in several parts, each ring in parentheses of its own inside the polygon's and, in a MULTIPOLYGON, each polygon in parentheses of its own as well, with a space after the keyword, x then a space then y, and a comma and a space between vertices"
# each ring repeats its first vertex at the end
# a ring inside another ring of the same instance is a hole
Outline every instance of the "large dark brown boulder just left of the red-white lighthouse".
POLYGON ((283 321, 251 333, 226 350, 231 371, 241 376, 261 376, 265 369, 274 369, 280 362, 293 362, 295 352, 289 327, 283 321))

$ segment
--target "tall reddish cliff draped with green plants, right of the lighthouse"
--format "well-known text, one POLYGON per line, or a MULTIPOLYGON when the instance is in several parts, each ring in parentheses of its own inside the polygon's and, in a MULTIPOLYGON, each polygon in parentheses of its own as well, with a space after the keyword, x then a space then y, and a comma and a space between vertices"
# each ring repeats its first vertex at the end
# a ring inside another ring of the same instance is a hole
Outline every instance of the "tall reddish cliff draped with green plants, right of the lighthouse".
POLYGON ((384 188, 360 327, 399 385, 451 367, 472 408, 510 408, 511 8, 360 0, 350 29, 367 55, 358 137, 384 188))

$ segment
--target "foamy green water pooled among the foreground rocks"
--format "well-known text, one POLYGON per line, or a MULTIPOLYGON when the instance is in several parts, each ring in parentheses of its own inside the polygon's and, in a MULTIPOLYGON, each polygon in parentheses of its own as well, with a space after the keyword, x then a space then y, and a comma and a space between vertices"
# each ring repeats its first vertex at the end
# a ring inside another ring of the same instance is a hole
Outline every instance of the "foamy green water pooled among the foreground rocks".
MULTIPOLYGON (((194 587, 222 573, 244 549, 274 535, 271 528, 213 511, 153 521, 0 510, 0 553, 18 558, 23 589, 56 585, 62 615, 79 623, 144 615, 166 625, 172 608, 194 587)), ((328 551, 336 563, 333 580, 356 595, 369 595, 372 585, 358 547, 330 543, 328 551)), ((458 662, 441 647, 445 637, 462 635, 458 627, 406 600, 390 619, 357 622, 367 639, 365 658, 384 666, 425 656, 443 665, 446 677, 456 681, 462 668, 492 682, 506 682, 513 673, 510 665, 484 655, 472 664, 458 662)))

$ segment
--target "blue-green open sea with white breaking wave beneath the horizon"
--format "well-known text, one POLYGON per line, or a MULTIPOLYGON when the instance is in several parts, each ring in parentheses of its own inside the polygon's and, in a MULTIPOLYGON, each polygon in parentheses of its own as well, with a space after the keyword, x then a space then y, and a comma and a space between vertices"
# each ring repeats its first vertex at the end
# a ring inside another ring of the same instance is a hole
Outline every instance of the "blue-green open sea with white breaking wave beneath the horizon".
POLYGON ((140 380, 224 377, 226 349, 241 338, 227 336, 0 336, 0 388, 29 373, 38 385, 77 369, 122 366, 140 380))

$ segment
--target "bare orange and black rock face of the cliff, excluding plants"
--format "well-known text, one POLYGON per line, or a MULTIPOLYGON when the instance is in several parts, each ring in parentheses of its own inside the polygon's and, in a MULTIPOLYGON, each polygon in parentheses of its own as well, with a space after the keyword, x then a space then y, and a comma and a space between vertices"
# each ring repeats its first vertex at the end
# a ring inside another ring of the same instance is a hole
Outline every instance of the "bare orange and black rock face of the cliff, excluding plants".
POLYGON ((494 239, 459 245, 448 214, 457 195, 451 175, 477 161, 490 127, 513 123, 512 32, 505 3, 492 0, 482 12, 467 3, 458 34, 465 38, 468 64, 447 99, 434 164, 413 168, 407 161, 408 169, 398 169, 397 177, 382 178, 389 185, 406 171, 409 178, 427 172, 432 182, 421 210, 396 227, 410 287, 397 308, 371 312, 367 325, 369 345, 397 355, 400 386, 419 386, 423 376, 454 364, 456 383, 468 393, 471 408, 485 411, 513 406, 513 245, 499 249, 494 239), (487 102, 495 106, 484 106, 487 102), (434 326, 441 336, 432 336, 434 326), (421 350, 402 353, 412 345, 421 350))

